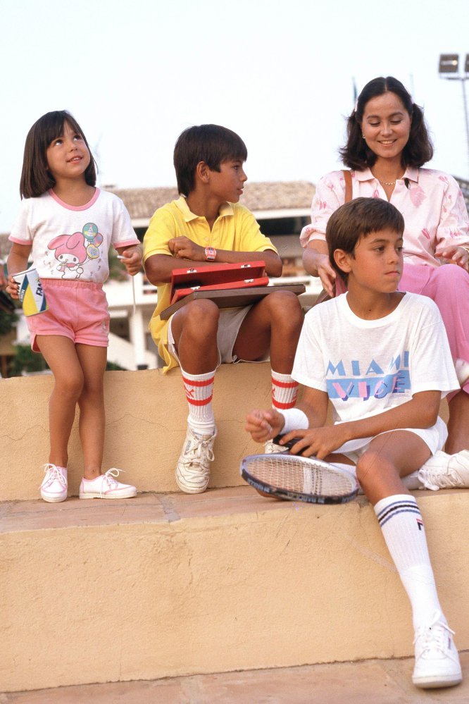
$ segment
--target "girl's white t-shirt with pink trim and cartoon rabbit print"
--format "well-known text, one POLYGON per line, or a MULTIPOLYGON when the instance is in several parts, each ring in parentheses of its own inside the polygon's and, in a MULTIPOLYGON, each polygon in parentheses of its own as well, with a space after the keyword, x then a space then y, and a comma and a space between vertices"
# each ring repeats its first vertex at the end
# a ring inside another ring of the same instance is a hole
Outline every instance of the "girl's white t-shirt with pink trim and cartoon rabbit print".
POLYGON ((109 247, 138 245, 130 216, 113 193, 96 188, 83 206, 70 206, 49 190, 25 198, 13 225, 11 242, 32 245, 39 278, 104 283, 109 247))

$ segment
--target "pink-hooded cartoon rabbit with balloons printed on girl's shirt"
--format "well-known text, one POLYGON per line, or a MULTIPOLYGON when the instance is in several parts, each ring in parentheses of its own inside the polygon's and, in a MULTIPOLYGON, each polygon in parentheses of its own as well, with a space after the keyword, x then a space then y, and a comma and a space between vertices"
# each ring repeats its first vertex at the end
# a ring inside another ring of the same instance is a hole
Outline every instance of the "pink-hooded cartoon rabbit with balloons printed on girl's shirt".
POLYGON ((103 241, 94 223, 86 223, 81 233, 59 235, 49 242, 49 249, 55 249, 55 257, 59 262, 57 270, 62 272, 62 278, 80 278, 83 273, 82 264, 87 259, 99 257, 99 245, 103 241))

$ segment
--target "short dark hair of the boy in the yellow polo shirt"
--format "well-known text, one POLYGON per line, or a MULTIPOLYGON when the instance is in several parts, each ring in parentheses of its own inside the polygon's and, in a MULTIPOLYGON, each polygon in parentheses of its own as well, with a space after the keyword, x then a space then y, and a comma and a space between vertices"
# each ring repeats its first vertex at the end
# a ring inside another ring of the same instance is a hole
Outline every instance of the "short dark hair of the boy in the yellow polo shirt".
POLYGON ((229 159, 247 159, 246 144, 236 132, 221 125, 187 128, 177 137, 174 148, 178 192, 188 196, 194 190, 195 170, 199 161, 205 161, 211 171, 220 171, 220 165, 229 159))

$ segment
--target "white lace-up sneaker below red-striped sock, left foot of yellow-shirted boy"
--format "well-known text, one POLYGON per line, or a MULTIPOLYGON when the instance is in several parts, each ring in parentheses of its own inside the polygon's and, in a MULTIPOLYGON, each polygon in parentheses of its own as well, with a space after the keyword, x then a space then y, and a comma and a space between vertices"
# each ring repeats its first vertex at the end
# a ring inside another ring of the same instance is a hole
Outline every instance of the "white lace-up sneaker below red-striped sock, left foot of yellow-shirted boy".
POLYGON ((206 490, 210 479, 210 463, 213 462, 213 434, 199 435, 187 426, 186 439, 176 465, 176 482, 187 494, 200 494, 206 490))

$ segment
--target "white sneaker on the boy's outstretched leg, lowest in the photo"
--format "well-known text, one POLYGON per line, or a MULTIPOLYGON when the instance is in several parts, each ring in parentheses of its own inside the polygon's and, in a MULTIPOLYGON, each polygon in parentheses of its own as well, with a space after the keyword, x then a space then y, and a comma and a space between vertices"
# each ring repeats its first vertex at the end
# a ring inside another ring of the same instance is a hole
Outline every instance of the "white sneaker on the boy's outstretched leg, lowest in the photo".
POLYGON ((422 689, 452 687, 459 684, 463 675, 459 655, 448 624, 441 612, 434 614, 432 622, 415 632, 415 667, 412 681, 422 689))

